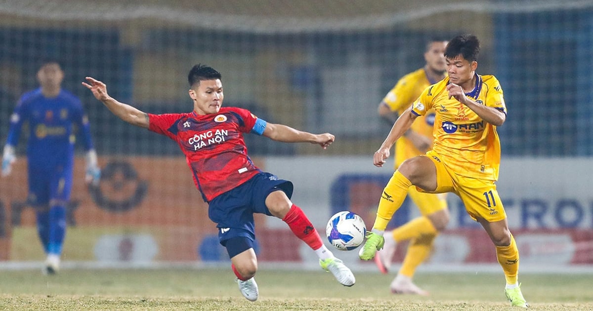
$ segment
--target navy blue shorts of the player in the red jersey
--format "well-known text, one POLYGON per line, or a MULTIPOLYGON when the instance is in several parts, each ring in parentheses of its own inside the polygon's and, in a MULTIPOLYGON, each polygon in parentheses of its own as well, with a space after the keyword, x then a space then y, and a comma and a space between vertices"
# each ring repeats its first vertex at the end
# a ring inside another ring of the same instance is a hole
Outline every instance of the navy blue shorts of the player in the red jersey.
POLYGON ((272 216, 266 207, 267 195, 282 190, 292 197, 292 182, 278 179, 276 175, 261 172, 239 187, 229 190, 210 201, 208 217, 218 227, 218 241, 226 246, 231 238, 244 237, 254 241, 253 213, 272 216))

